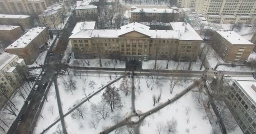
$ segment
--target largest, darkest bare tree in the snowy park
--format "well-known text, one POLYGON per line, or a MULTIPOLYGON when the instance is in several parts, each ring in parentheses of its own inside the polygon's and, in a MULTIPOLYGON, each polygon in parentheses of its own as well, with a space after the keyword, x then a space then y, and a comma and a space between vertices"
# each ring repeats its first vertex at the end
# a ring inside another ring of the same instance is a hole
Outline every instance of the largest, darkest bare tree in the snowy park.
POLYGON ((121 108, 122 102, 120 95, 115 90, 115 87, 108 86, 105 92, 102 94, 103 100, 109 104, 111 111, 115 108, 121 108))

